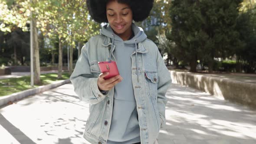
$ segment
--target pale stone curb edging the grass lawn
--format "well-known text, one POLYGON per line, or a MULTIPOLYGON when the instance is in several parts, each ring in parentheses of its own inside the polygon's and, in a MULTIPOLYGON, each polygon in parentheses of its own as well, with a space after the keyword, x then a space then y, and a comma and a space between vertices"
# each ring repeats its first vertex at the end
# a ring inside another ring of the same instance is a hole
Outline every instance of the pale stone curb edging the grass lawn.
POLYGON ((69 79, 56 81, 56 82, 53 82, 52 84, 41 85, 37 88, 31 88, 31 89, 27 89, 22 92, 16 92, 11 95, 2 96, 2 97, 0 97, 0 108, 2 108, 3 106, 6 106, 8 103, 11 103, 13 101, 18 101, 18 100, 28 97, 30 95, 36 95, 38 93, 45 92, 49 89, 56 88, 61 85, 65 85, 67 83, 70 83, 69 79))

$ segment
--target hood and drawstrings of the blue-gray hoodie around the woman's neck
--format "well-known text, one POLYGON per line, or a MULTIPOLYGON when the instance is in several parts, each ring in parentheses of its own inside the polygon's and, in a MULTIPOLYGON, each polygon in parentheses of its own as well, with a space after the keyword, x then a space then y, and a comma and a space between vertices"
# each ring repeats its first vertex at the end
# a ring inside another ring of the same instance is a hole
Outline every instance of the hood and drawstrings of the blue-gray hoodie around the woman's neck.
MULTIPOLYGON (((115 41, 120 41, 123 42, 125 44, 135 44, 135 53, 136 53, 136 74, 137 74, 137 79, 139 82, 139 77, 138 77, 138 56, 137 56, 137 51, 138 51, 138 43, 144 41, 145 39, 147 39, 147 35, 144 33, 143 29, 136 26, 134 23, 131 23, 131 29, 134 33, 134 37, 129 39, 129 40, 123 40, 121 39, 118 35, 116 35, 113 32, 113 29, 111 28, 111 26, 109 25, 109 23, 105 26, 102 26, 102 29, 100 29, 100 33, 104 36, 109 37, 112 40, 112 45, 111 45, 111 52, 114 46, 115 41)), ((111 60, 111 56, 112 54, 110 54, 109 56, 109 61, 111 60)))

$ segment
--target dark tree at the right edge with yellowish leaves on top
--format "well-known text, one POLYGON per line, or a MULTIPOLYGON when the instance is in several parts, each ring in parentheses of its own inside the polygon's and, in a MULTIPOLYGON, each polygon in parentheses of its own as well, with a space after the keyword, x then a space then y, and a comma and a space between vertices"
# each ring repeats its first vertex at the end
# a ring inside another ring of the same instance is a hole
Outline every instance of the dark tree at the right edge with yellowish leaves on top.
POLYGON ((241 46, 236 47, 237 71, 256 71, 256 0, 245 0, 240 8, 236 30, 240 33, 241 46))

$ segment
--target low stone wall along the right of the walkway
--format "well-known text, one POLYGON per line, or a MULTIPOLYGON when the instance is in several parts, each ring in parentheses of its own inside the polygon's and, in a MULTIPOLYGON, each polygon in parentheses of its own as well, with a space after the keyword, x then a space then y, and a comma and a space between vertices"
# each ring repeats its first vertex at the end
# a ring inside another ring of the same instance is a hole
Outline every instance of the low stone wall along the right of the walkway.
POLYGON ((191 88, 209 92, 211 95, 223 97, 225 100, 236 102, 256 109, 256 84, 240 82, 221 77, 200 75, 192 72, 171 71, 173 83, 187 85, 191 88))

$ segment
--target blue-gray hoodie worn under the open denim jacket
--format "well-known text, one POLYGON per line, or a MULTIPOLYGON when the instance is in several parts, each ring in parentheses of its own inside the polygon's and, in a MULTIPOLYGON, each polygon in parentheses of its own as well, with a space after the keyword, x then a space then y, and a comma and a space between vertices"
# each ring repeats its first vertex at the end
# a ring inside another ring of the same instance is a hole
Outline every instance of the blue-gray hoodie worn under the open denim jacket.
MULTIPOLYGON (((132 144, 141 141, 138 112, 131 80, 131 55, 134 52, 136 53, 137 66, 137 45, 144 41, 147 36, 134 23, 132 23, 132 31, 135 36, 123 41, 113 32, 109 24, 103 26, 100 30, 102 35, 112 39, 111 52, 116 59, 118 71, 123 78, 122 82, 114 87, 112 122, 107 144, 132 144)), ((110 59, 111 56, 109 57, 110 59)))

